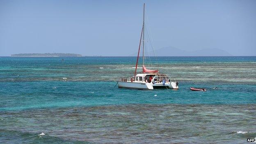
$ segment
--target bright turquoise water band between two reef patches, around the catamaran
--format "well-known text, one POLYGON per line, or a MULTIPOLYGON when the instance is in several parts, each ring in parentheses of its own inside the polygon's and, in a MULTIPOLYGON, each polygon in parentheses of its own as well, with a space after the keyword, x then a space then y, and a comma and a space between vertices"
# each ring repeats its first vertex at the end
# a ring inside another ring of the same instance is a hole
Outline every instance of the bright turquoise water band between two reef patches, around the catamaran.
POLYGON ((191 91, 193 83, 181 83, 179 90, 142 91, 118 89, 116 82, 2 82, 0 110, 26 110, 48 107, 82 107, 120 104, 254 104, 255 85, 197 86, 206 92, 191 91), (157 95, 157 96, 155 96, 157 95), (11 101, 10 101, 11 98, 11 101))

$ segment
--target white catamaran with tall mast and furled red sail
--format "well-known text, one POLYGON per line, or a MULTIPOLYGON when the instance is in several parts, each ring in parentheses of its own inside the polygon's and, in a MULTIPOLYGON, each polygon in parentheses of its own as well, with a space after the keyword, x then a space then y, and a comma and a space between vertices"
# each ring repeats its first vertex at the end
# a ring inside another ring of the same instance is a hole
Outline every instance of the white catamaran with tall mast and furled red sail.
POLYGON ((143 25, 139 40, 139 51, 137 55, 137 62, 135 66, 134 77, 121 78, 118 81, 119 88, 131 88, 131 89, 155 89, 155 88, 173 88, 178 89, 178 82, 171 82, 170 77, 167 74, 159 73, 159 70, 146 69, 144 64, 144 31, 145 31, 145 4, 143 5, 143 25), (140 47, 142 44, 142 73, 137 72, 138 59, 140 47))

